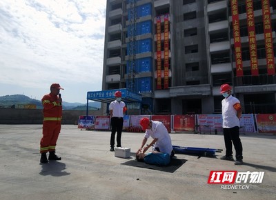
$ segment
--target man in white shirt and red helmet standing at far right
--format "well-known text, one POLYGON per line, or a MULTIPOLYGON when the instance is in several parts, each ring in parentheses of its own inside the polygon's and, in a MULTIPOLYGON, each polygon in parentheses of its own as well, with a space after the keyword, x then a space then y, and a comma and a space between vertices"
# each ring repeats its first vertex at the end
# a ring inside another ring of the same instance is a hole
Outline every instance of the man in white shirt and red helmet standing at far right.
POLYGON ((226 155, 221 157, 223 160, 234 161, 232 152, 232 142, 236 150, 235 165, 242 165, 242 142, 239 139, 239 119, 242 117, 242 106, 239 99, 231 95, 232 88, 228 84, 220 87, 221 94, 225 99, 221 101, 222 128, 224 129, 224 143, 226 155))

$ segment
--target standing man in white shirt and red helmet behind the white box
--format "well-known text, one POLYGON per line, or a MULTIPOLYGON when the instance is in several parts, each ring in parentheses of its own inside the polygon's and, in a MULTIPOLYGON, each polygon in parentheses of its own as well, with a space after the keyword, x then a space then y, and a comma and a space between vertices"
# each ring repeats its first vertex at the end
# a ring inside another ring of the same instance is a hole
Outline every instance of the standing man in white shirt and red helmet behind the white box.
POLYGON ((109 105, 111 117, 111 136, 110 136, 110 151, 114 151, 115 134, 117 131, 117 147, 121 147, 121 131, 124 123, 124 112, 126 112, 126 103, 121 101, 121 91, 115 92, 115 101, 109 105))

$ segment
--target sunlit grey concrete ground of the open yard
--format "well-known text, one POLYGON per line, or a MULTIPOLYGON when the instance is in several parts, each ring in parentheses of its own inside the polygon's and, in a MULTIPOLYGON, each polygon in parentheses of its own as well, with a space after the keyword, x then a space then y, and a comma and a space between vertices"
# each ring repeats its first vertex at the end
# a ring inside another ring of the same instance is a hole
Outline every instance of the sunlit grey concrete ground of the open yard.
MULTIPOLYGON (((41 125, 0 125, 0 199, 276 199, 276 136, 241 135, 244 165, 219 159, 221 134, 172 133, 172 144, 219 148, 216 157, 176 154, 186 159, 175 172, 121 165, 129 159, 110 152, 109 131, 63 125, 57 143, 61 161, 39 163, 41 125), (262 183, 235 183, 248 189, 208 184, 211 170, 264 172, 262 183)), ((122 145, 134 153, 143 133, 123 132, 122 145)), ((150 143, 151 139, 148 141, 150 143)), ((235 153, 234 153, 235 154, 235 153)))

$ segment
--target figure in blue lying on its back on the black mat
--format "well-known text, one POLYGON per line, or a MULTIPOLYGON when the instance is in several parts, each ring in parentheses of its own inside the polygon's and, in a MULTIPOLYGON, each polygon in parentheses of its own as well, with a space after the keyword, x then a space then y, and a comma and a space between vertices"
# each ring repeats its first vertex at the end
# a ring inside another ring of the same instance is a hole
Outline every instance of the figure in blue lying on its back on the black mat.
POLYGON ((170 163, 170 154, 157 151, 144 154, 144 152, 139 151, 136 154, 136 159, 150 165, 167 166, 170 163))

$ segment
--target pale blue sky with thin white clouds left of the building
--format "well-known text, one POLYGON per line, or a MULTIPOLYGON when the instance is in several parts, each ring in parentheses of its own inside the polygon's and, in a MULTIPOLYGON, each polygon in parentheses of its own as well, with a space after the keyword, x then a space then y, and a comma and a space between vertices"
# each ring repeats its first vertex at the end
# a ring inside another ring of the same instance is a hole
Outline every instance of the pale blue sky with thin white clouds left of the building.
POLYGON ((101 90, 106 0, 1 0, 0 96, 41 99, 60 83, 63 101, 101 90))

